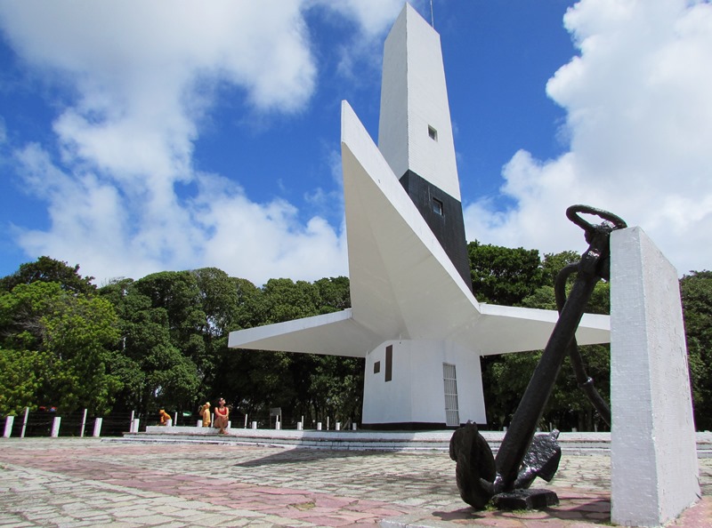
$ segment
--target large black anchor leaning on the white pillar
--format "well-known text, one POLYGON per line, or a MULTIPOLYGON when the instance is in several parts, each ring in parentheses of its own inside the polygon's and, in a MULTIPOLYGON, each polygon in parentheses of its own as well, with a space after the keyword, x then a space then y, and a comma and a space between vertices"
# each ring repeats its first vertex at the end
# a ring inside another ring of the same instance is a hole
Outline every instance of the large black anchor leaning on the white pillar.
POLYGON ((450 439, 450 458, 457 461, 457 488, 462 499, 473 508, 484 508, 490 500, 499 508, 542 508, 558 503, 554 492, 532 492, 528 488, 537 476, 551 480, 559 465, 561 448, 556 443, 558 431, 548 436, 534 435, 567 354, 579 386, 603 420, 611 423, 608 404, 587 376, 574 334, 595 284, 610 277, 611 232, 627 225, 611 212, 587 205, 571 205, 566 210, 566 216, 584 229, 588 249, 581 255, 578 264, 563 268, 556 277, 559 319, 514 412, 497 457, 493 457, 489 444, 473 423, 458 428, 450 439), (591 224, 582 219, 580 213, 593 214, 603 222, 591 224), (578 275, 567 298, 566 280, 574 271, 578 275))

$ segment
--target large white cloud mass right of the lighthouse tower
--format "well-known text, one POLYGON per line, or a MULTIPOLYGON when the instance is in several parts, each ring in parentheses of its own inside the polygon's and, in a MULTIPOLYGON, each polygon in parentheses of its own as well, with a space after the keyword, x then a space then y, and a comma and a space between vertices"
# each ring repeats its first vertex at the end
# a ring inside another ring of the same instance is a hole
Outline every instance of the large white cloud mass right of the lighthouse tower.
POLYGON ((639 225, 678 269, 712 267, 712 4, 582 0, 564 25, 580 50, 546 91, 568 113, 570 149, 540 161, 518 152, 498 211, 465 210, 483 243, 583 250, 564 217, 590 204, 639 225))

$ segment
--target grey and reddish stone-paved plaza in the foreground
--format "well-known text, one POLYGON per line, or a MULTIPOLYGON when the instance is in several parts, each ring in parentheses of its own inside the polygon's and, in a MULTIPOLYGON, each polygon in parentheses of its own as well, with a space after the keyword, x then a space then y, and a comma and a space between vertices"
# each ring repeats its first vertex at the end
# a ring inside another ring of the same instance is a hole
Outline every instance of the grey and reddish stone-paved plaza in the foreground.
MULTIPOLYGON (((545 511, 478 512, 447 452, 349 452, 245 444, 0 441, 0 526, 610 526, 610 459, 564 454, 545 511)), ((675 526, 712 526, 703 498, 675 526)))

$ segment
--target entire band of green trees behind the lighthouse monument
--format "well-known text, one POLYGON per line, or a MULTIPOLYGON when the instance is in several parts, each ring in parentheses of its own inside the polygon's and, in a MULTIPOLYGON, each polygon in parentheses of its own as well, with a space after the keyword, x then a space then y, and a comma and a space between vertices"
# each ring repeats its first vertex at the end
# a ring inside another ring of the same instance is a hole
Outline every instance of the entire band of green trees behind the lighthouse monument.
MULTIPOLYGON (((468 247, 478 300, 555 309, 554 277, 576 252, 473 242, 468 247)), ((227 348, 229 332, 350 308, 349 279, 313 283, 274 278, 256 286, 217 268, 117 278, 97 288, 79 267, 41 257, 0 278, 0 413, 28 406, 60 411, 159 408, 194 412, 223 396, 250 420, 281 407, 285 423, 360 420, 363 360, 227 348)), ((680 281, 695 420, 712 428, 712 272, 680 281)), ((609 312, 609 286, 596 285, 587 311, 609 312)), ((607 346, 582 348, 587 371, 610 393, 607 346)), ((511 420, 540 352, 482 358, 488 427, 511 420)), ((541 426, 603 428, 577 387, 568 359, 541 426)))

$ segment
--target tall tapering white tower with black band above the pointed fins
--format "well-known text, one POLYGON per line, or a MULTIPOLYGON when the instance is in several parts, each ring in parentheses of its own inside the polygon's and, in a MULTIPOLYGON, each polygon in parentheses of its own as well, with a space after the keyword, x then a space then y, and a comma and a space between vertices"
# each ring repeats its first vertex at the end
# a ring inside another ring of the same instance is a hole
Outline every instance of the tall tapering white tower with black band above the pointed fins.
POLYGON ((383 64, 378 149, 472 289, 440 36, 409 4, 383 64))

